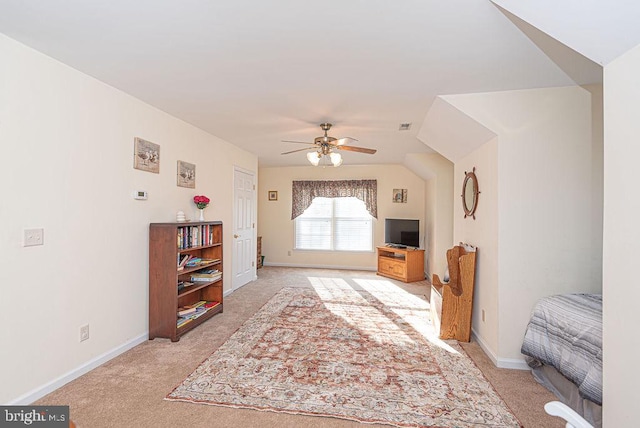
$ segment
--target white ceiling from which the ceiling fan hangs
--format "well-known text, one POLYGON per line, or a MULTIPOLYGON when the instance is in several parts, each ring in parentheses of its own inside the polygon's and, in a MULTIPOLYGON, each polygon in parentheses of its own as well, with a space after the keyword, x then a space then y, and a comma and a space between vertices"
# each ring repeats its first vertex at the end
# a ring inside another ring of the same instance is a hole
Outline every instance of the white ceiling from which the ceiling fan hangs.
POLYGON ((313 141, 325 121, 330 136, 378 150, 342 152, 345 164, 402 163, 431 151, 416 136, 438 95, 584 80, 557 46, 550 59, 549 36, 568 33, 599 63, 640 43, 638 20, 623 15, 597 29, 616 28, 606 47, 620 40, 618 50, 598 50, 593 31, 579 37, 586 18, 574 22, 568 7, 577 1, 3 0, 0 32, 254 152, 261 166, 308 165, 304 152, 280 155, 301 148, 281 140, 313 141), (546 44, 522 21, 538 23, 546 44), (405 122, 411 130, 399 131, 405 122))

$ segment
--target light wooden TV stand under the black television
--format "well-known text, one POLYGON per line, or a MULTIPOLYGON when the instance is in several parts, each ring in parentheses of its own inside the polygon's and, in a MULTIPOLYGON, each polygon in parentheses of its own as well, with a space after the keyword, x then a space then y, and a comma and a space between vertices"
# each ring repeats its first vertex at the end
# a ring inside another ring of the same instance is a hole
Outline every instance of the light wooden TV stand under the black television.
POLYGON ((378 275, 404 282, 424 279, 424 250, 377 247, 378 275))

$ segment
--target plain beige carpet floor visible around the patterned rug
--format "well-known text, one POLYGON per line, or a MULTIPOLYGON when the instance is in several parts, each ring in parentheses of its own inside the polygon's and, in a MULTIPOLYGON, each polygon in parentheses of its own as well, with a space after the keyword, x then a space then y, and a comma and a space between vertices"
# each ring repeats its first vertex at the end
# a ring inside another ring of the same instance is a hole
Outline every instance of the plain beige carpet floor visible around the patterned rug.
MULTIPOLYGON (((283 287, 311 287, 313 278, 384 280, 373 272, 265 267, 258 280, 225 299, 224 313, 189 332, 179 342, 156 339, 109 361, 34 404, 68 404, 80 428, 100 427, 356 427, 331 417, 291 415, 251 409, 194 405, 164 398, 218 349, 283 287)), ((426 282, 403 284, 409 293, 428 295, 426 282)), ((354 288, 357 288, 354 285, 354 288)), ((525 427, 563 427, 544 413, 554 396, 527 371, 497 369, 475 343, 462 344, 478 368, 525 427)), ((365 426, 388 426, 372 424, 365 426)))

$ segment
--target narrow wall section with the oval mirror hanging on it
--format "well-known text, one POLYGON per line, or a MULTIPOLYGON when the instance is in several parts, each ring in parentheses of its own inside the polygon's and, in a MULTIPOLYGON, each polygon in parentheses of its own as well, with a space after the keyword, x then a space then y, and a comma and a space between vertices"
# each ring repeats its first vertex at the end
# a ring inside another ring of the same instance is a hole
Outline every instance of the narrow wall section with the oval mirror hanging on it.
POLYGON ((498 349, 498 138, 469 153, 455 164, 454 230, 455 244, 466 242, 478 247, 476 283, 473 295, 472 329, 483 347, 498 349), (475 168, 478 178, 478 208, 475 219, 466 217, 462 208, 462 183, 467 172, 475 168), (482 311, 485 319, 482 320, 482 311))

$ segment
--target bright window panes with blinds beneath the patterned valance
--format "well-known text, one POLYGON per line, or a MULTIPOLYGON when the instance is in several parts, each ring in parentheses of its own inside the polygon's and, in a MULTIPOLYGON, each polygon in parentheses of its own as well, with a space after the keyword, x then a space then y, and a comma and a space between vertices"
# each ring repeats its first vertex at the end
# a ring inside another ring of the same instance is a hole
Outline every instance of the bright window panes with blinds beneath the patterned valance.
POLYGON ((295 228, 297 250, 373 250, 373 217, 358 198, 316 197, 295 228))

